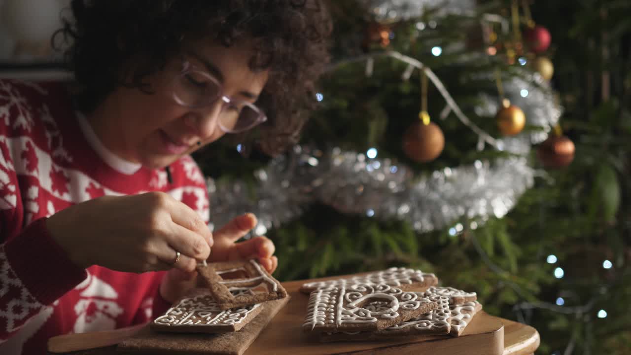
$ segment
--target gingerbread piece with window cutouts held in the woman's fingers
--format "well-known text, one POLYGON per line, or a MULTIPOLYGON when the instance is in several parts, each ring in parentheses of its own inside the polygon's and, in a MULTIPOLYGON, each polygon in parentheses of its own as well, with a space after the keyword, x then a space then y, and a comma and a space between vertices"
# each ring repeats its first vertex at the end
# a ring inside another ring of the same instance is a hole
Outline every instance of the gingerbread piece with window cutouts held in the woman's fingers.
POLYGON ((256 260, 209 263, 197 270, 221 310, 281 299, 287 291, 256 260))

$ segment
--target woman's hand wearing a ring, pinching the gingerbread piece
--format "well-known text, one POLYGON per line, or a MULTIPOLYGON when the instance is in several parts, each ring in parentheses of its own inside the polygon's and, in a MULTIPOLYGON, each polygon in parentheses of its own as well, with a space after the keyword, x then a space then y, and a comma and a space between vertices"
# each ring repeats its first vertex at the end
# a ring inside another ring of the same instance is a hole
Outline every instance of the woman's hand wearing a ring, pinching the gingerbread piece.
POLYGON ((49 217, 50 235, 76 265, 122 272, 179 268, 206 260, 213 234, 186 204, 162 192, 103 196, 49 217), (174 265, 177 251, 180 257, 174 265))

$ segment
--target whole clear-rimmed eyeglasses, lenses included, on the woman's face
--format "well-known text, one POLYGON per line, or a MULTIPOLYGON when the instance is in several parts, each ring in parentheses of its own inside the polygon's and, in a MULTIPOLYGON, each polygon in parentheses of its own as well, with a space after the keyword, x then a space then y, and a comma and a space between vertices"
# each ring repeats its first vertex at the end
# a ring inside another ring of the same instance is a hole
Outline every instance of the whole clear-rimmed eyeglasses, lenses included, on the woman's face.
POLYGON ((219 126, 226 133, 240 133, 267 121, 264 112, 251 102, 223 95, 223 86, 215 76, 184 61, 182 73, 173 85, 173 98, 178 104, 200 108, 221 100, 219 126))

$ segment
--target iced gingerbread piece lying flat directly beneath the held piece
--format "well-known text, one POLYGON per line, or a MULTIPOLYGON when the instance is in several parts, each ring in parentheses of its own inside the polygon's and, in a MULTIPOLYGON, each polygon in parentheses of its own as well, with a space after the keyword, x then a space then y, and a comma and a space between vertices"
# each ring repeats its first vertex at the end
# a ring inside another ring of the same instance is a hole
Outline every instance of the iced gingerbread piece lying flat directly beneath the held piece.
POLYGON ((261 304, 221 310, 208 289, 193 289, 151 322, 158 332, 236 332, 261 312, 261 304))

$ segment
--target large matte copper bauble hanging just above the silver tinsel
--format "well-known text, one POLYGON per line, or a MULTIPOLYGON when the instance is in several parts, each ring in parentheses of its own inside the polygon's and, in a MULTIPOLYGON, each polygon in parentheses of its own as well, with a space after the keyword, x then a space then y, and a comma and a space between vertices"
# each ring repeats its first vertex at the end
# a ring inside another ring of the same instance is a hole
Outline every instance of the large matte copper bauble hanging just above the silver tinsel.
POLYGON ((403 151, 415 162, 436 159, 445 147, 445 136, 437 124, 417 121, 403 135, 403 151))

